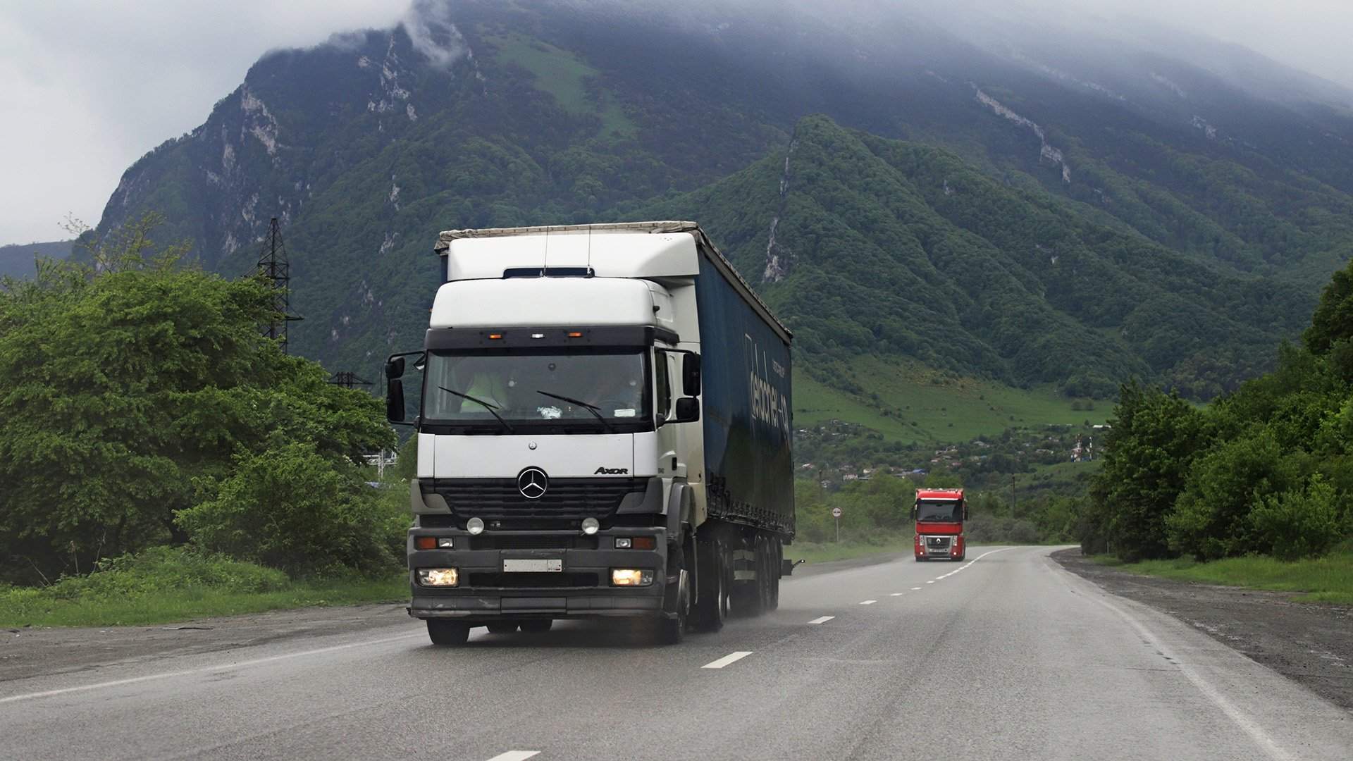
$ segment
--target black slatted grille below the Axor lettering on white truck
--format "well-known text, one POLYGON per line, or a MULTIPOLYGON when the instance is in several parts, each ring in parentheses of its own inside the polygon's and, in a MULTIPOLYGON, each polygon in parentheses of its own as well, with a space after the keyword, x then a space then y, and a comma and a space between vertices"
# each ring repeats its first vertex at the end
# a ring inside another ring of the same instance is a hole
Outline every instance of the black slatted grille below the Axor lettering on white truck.
POLYGON ((517 479, 455 478, 432 482, 432 489, 446 500, 453 513, 483 520, 599 520, 616 512, 625 494, 643 492, 647 486, 647 478, 552 478, 543 497, 528 500, 517 490, 517 479))

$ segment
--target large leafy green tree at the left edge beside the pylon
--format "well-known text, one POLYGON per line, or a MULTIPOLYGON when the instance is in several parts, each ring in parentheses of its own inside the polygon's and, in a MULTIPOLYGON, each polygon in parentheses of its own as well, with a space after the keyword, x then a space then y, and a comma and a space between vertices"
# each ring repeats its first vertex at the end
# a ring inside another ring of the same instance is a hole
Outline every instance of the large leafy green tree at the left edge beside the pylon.
POLYGON ((0 286, 0 554, 46 577, 185 542, 193 481, 235 454, 281 437, 340 463, 394 441, 377 399, 260 334, 267 284, 181 264, 156 222, 0 286))

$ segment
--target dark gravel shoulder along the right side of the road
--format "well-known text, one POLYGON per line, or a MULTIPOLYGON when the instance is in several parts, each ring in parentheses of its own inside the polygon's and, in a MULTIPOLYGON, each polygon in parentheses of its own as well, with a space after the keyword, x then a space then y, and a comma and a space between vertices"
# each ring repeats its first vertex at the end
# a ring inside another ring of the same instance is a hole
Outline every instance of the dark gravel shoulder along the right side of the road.
POLYGON ((1095 563, 1080 550, 1051 557, 1105 592, 1168 613, 1353 710, 1353 608, 1293 603, 1292 593, 1134 574, 1095 563))

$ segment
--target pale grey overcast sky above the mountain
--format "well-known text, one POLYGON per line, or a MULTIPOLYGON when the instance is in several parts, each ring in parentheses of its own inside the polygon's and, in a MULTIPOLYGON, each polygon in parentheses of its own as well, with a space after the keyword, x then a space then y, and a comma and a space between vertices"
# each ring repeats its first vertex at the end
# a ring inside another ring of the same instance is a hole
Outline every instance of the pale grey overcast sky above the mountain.
MULTIPOLYGON (((1353 87, 1353 0, 1024 1, 1150 16, 1353 87)), ((267 50, 390 27, 407 5, 0 0, 0 244, 65 238, 68 214, 97 223, 122 172, 204 122, 267 50)))

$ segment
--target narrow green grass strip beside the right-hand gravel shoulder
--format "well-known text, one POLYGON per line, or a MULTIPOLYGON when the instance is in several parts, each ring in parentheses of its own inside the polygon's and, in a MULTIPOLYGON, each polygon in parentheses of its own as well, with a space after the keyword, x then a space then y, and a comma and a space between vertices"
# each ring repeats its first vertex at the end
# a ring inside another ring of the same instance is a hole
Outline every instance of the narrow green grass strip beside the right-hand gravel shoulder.
POLYGON ((1284 562, 1268 557, 1226 558, 1200 563, 1188 558, 1124 563, 1097 555, 1095 562, 1126 571, 1180 581, 1200 581, 1226 586, 1246 586, 1272 592, 1299 592, 1303 603, 1353 605, 1353 551, 1323 558, 1284 562))

